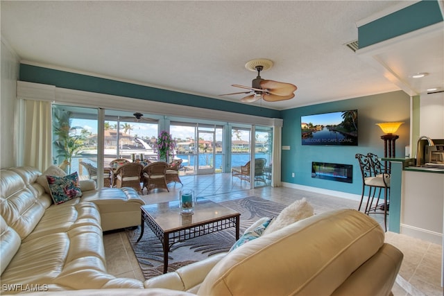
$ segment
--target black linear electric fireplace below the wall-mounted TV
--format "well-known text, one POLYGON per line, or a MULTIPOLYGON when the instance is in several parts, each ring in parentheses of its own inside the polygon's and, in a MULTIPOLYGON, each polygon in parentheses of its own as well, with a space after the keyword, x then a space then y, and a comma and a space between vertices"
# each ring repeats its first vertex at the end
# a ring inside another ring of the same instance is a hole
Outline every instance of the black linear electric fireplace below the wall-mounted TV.
POLYGON ((311 162, 311 177, 352 183, 353 166, 351 164, 329 164, 327 162, 311 162))

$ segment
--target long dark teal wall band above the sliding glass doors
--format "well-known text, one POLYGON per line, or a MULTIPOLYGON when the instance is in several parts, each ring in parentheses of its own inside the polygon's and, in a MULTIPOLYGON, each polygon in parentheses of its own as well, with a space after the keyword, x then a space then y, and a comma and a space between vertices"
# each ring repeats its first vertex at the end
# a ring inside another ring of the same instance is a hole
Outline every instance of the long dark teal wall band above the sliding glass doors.
POLYGON ((203 107, 212 110, 236 112, 269 118, 280 118, 280 111, 278 110, 217 100, 205 96, 173 92, 166 89, 146 87, 144 85, 136 85, 133 83, 87 76, 67 71, 36 67, 29 64, 20 64, 19 80, 55 85, 56 87, 76 89, 85 92, 125 96, 128 98, 139 98, 147 101, 173 103, 191 107, 203 107))

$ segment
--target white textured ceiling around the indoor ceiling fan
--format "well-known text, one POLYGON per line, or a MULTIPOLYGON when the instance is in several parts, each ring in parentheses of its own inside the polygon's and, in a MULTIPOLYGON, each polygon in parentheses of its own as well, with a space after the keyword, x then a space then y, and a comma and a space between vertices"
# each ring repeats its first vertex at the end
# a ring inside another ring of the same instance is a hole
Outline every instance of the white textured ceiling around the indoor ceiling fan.
POLYGON ((254 104, 282 110, 401 89, 344 44, 357 21, 406 2, 1 1, 1 36, 22 62, 232 101, 218 95, 267 58, 262 78, 298 90, 254 104))

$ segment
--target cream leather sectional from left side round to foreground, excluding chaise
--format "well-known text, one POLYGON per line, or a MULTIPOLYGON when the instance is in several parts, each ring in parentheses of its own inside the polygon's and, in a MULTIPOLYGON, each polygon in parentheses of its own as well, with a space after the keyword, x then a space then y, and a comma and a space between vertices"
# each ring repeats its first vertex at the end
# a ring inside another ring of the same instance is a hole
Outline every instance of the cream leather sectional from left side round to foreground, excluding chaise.
POLYGON ((144 283, 119 279, 105 269, 101 204, 86 191, 85 200, 51 205, 37 175, 1 171, 3 293, 17 284, 40 288, 33 295, 390 295, 402 262, 373 218, 342 209, 144 283))

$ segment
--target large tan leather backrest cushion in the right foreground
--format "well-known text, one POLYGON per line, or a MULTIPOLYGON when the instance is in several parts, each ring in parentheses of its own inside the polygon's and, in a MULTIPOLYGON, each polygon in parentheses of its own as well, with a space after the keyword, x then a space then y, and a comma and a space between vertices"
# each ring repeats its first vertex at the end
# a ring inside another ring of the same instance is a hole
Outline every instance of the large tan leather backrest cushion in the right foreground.
POLYGON ((353 209, 328 211, 229 252, 198 295, 331 295, 383 244, 373 218, 353 209))

